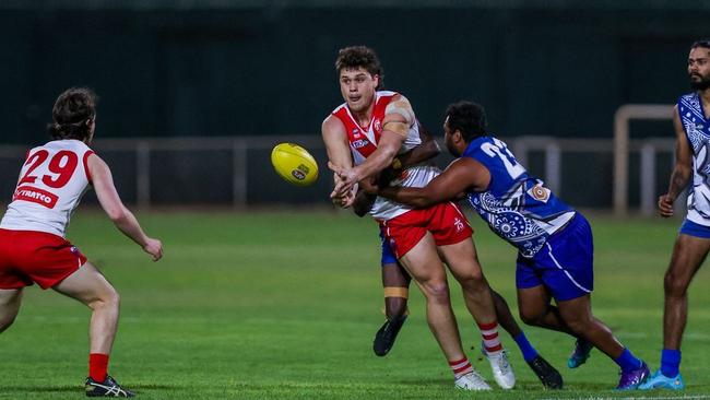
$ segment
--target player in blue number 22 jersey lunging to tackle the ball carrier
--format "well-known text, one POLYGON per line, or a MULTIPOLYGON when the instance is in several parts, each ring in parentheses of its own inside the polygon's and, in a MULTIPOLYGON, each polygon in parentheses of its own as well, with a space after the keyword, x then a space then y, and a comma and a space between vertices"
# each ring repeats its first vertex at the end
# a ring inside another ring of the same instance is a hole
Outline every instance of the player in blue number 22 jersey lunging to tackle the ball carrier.
POLYGON ((516 284, 523 321, 577 337, 570 367, 585 361, 590 346, 584 343, 591 343, 622 368, 617 389, 637 388, 648 377, 648 366, 591 311, 593 239, 584 216, 488 133, 482 106, 460 102, 446 115, 445 140, 458 160, 424 188, 367 190, 413 207, 465 193, 490 230, 518 249, 516 284))

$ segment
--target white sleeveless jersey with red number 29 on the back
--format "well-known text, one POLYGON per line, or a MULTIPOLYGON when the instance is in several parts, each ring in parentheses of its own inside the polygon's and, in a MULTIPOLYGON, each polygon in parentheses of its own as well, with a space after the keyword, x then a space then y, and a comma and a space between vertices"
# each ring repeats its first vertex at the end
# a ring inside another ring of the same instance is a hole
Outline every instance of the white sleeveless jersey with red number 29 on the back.
POLYGON ((0 228, 64 237, 71 213, 91 184, 86 160, 92 153, 84 142, 73 139, 28 151, 0 228))

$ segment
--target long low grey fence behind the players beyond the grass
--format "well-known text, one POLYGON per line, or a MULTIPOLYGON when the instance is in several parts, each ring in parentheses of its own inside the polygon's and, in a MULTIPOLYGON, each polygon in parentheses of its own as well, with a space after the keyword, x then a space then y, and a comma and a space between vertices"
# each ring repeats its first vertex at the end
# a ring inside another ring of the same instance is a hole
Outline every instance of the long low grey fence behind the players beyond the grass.
MULTIPOLYGON (((614 142, 610 139, 520 137, 511 138, 507 142, 521 164, 545 179, 553 190, 564 199, 569 199, 572 204, 576 204, 576 201, 570 198, 580 189, 589 189, 587 186, 593 185, 588 184, 594 180, 592 178, 601 183, 597 184, 597 190, 611 191, 611 188, 606 188, 606 184, 614 179, 611 165, 614 160, 614 142), (580 161, 582 153, 587 153, 587 161, 580 161), (600 178, 600 174, 604 176, 600 178)), ((119 191, 127 202, 143 208, 180 205, 186 202, 235 207, 262 203, 328 203, 332 181, 326 167, 323 144, 317 134, 99 139, 92 146, 111 166, 119 191), (291 187, 272 172, 269 155, 271 149, 280 142, 299 143, 313 153, 321 168, 321 177, 313 187, 291 187)), ((628 141, 629 153, 639 155, 640 161, 638 179, 632 185, 627 184, 627 192, 639 193, 638 207, 642 213, 653 212, 656 188, 660 185, 659 177, 663 185, 667 183, 671 170, 659 169, 656 160, 659 156, 667 158, 673 148, 673 139, 628 141)), ((24 146, 0 145, 0 189, 4 190, 4 193, 12 192, 25 153, 24 146)), ((450 161, 446 155, 440 158, 441 166, 450 161)), ((602 198, 606 199, 606 196, 602 198)), ((581 202, 579 205, 582 207, 606 209, 614 204, 611 193, 608 201, 589 204, 579 200, 577 202, 581 202)))

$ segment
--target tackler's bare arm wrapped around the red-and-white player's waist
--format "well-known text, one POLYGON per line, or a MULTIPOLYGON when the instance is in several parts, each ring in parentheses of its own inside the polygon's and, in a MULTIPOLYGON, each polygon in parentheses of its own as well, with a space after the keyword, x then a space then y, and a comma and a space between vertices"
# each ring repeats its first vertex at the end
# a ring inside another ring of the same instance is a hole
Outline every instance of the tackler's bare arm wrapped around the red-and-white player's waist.
POLYGON ((477 161, 463 157, 454 160, 449 167, 423 188, 387 187, 378 195, 403 204, 423 208, 443 201, 455 200, 466 191, 484 191, 490 183, 490 173, 477 161))

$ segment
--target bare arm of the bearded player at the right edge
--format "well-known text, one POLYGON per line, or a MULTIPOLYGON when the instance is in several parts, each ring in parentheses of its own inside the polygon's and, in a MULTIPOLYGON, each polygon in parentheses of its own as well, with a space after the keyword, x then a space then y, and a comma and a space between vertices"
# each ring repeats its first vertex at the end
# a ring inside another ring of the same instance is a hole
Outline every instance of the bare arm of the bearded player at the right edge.
POLYGON ((673 109, 673 128, 675 130, 675 165, 671 174, 668 191, 659 197, 659 214, 664 217, 673 216, 673 203, 678 195, 688 186, 693 176, 693 149, 683 129, 678 106, 673 109))

